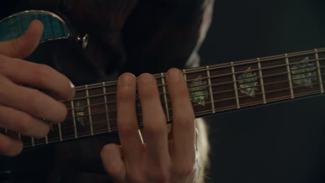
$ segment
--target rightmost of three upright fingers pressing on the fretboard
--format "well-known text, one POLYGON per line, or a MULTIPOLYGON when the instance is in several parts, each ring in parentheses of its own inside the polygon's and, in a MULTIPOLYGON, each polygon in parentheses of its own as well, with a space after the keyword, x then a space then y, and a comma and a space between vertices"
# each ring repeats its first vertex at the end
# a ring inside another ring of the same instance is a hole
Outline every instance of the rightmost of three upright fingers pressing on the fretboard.
POLYGON ((172 101, 174 155, 177 159, 195 159, 194 111, 181 71, 169 69, 167 85, 172 101))

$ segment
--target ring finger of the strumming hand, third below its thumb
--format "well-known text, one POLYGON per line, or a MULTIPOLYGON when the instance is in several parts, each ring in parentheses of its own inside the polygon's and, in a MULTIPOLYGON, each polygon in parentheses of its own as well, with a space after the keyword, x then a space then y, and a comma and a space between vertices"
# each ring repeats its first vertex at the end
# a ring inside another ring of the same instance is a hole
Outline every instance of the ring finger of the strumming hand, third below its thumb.
POLYGON ((3 105, 0 105, 0 126, 36 139, 45 137, 50 129, 44 121, 3 105))

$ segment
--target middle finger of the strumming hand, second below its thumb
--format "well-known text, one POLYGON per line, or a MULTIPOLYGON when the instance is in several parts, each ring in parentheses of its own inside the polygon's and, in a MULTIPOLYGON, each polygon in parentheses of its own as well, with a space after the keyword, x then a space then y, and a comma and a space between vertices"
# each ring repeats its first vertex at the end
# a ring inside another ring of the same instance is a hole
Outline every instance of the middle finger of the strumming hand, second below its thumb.
POLYGON ((60 123, 67 116, 67 107, 37 89, 16 85, 8 78, 0 77, 0 103, 27 112, 37 118, 60 123))

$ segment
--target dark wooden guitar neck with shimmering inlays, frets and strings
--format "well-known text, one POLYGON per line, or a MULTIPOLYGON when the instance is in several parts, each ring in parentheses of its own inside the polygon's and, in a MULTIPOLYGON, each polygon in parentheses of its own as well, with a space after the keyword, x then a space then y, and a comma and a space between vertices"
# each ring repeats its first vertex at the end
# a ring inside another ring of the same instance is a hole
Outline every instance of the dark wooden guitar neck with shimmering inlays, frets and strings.
MULTIPOLYGON (((195 116, 275 103, 324 93, 325 48, 240 62, 184 69, 195 116)), ((156 77, 167 121, 172 121, 165 73, 156 77)), ((117 81, 76 87, 67 119, 52 125, 44 139, 20 137, 25 147, 117 132, 117 81)), ((135 101, 142 127, 139 98, 135 101)), ((3 132, 8 132, 4 130, 3 132)))

